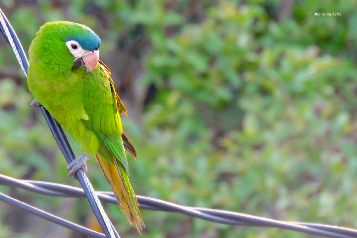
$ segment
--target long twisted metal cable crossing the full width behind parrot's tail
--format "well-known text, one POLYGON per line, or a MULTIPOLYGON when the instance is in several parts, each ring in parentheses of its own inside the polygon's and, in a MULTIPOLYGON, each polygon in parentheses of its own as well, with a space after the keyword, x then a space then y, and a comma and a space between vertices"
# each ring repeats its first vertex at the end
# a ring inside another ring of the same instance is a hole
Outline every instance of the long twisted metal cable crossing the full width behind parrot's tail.
MULTIPOLYGON (((49 183, 34 180, 20 180, 0 174, 0 185, 9 185, 26 189, 47 196, 85 197, 81 188, 76 188, 64 184, 49 183)), ((116 199, 112 192, 96 192, 102 202, 116 204, 116 199)), ((324 237, 352 238, 357 237, 357 230, 335 225, 325 225, 306 222, 286 222, 270 218, 258 217, 255 215, 230 212, 226 210, 185 207, 182 205, 166 202, 160 199, 149 198, 137 195, 140 209, 156 210, 163 212, 175 212, 208 220, 215 223, 227 225, 240 225, 249 227, 275 227, 281 229, 295 230, 302 233, 320 235, 324 237)))

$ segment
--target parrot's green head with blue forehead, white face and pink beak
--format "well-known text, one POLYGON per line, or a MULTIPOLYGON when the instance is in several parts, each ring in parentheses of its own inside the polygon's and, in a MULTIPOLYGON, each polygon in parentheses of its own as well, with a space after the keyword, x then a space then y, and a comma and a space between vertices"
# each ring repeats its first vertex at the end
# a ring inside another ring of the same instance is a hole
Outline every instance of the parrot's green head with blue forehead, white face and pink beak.
POLYGON ((86 67, 89 73, 98 64, 99 47, 99 36, 87 26, 55 21, 46 23, 36 33, 29 55, 63 72, 86 67))

